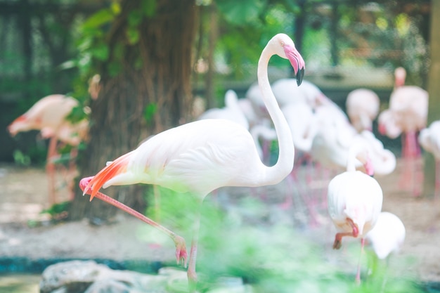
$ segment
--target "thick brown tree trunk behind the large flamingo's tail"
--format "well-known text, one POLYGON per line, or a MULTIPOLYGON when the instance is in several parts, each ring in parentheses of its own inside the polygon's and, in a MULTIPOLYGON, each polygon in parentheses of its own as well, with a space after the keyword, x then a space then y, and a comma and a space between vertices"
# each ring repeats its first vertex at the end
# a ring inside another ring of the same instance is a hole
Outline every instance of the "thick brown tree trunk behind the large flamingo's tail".
MULTIPOLYGON (((154 15, 143 17, 138 41, 130 44, 129 15, 141 11, 140 2, 122 1, 122 11, 108 30, 110 58, 99 72, 103 87, 91 105, 90 141, 81 153, 79 178, 95 175, 107 161, 189 117, 195 1, 156 0, 154 15)), ((116 186, 105 194, 143 212, 145 190, 145 185, 116 186)), ((115 214, 109 204, 89 203, 89 195, 80 194, 78 190, 70 208, 72 220, 105 220, 115 214)))

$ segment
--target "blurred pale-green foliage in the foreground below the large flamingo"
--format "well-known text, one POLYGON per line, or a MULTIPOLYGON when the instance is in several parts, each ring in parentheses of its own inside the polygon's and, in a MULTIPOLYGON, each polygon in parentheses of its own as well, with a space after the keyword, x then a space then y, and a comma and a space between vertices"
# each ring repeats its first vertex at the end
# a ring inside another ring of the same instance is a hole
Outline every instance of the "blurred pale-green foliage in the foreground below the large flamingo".
MULTIPOLYGON (((387 263, 366 249, 361 262, 362 282, 357 285, 354 279, 358 241, 344 242, 344 251, 332 250, 325 246, 331 245, 330 242, 313 241, 309 233, 289 221, 281 221, 283 211, 277 211, 278 218, 272 219, 271 205, 250 197, 245 188, 242 193, 235 190, 234 203, 228 203, 228 190, 231 188, 218 190, 202 204, 198 247, 200 287, 209 287, 217 278, 231 276, 252 285, 252 292, 422 292, 415 277, 403 270, 411 259, 396 256, 393 263, 387 263), (344 261, 335 261, 335 256, 344 261)), ((147 214, 158 217, 160 223, 186 236, 188 241, 196 203, 190 195, 163 188, 160 195, 160 214, 155 214, 154 207, 147 214)), ((311 232, 323 233, 321 229, 311 232)), ((172 248, 169 238, 153 228, 145 226, 138 235, 145 242, 172 248)))

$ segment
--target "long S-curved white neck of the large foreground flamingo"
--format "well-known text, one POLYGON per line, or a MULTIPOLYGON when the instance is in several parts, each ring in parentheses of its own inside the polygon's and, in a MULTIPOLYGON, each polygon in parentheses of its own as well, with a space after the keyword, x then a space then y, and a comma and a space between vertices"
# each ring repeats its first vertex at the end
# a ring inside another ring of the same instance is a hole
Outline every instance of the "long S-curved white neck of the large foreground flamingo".
POLYGON ((293 169, 295 158, 295 147, 293 145, 292 134, 289 125, 281 112, 271 89, 268 80, 267 67, 270 58, 275 55, 271 51, 271 42, 263 49, 258 61, 257 78, 259 88, 263 95, 264 105, 266 105, 269 116, 273 121, 278 138, 278 160, 275 165, 268 167, 264 181, 267 184, 276 184, 282 181, 293 169))

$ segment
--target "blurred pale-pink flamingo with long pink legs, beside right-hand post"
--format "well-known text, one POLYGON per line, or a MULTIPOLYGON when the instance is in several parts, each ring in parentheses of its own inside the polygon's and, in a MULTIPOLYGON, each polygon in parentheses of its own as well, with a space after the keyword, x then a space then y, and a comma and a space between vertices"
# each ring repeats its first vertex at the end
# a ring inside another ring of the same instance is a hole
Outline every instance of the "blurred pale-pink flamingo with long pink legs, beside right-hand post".
MULTIPOLYGON (((420 155, 418 149, 418 131, 424 129, 427 123, 428 93, 419 86, 405 86, 406 72, 399 67, 394 72, 394 91, 389 97, 389 111, 380 114, 379 131, 385 135, 392 130, 401 131, 402 157, 406 163, 401 176, 401 186, 406 187, 413 181, 413 194, 420 195, 419 184, 415 178, 416 159, 420 155), (386 117, 381 117, 386 115, 386 117)), ((396 132, 399 132, 396 131, 396 132)))

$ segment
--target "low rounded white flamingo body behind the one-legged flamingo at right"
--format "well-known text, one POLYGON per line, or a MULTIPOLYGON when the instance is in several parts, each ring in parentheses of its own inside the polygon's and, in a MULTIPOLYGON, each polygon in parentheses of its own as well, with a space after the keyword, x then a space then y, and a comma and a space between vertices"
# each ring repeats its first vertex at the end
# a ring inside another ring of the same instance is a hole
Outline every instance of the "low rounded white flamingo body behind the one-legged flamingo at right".
POLYGON ((376 225, 365 235, 367 243, 379 259, 386 259, 391 253, 399 252, 405 241, 405 226, 401 219, 389 211, 382 211, 376 225))

